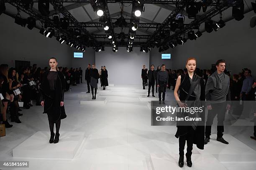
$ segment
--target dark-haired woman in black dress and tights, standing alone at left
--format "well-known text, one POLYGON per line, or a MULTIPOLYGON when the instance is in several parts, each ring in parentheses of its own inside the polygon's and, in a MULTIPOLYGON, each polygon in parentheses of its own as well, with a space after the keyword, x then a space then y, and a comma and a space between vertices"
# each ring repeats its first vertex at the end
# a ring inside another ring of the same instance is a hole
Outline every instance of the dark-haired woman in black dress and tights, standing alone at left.
POLYGON ((56 58, 50 58, 50 71, 44 76, 41 84, 41 105, 44 106, 44 113, 47 113, 51 137, 49 142, 59 142, 59 128, 61 119, 67 117, 64 109, 65 78, 62 72, 57 71, 56 58), (56 135, 54 134, 54 123, 56 124, 56 135), (55 135, 55 138, 54 138, 55 135))

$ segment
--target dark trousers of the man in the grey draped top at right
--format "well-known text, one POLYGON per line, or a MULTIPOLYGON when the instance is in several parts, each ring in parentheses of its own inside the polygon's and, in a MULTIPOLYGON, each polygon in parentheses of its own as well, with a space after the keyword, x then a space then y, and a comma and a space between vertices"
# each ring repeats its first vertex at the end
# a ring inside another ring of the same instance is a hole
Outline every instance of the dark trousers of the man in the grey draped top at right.
POLYGON ((211 104, 211 106, 212 106, 212 110, 208 110, 208 114, 207 114, 207 121, 205 125, 205 137, 210 137, 211 135, 212 123, 216 114, 218 119, 217 137, 223 137, 223 132, 224 132, 223 122, 225 120, 227 103, 222 102, 217 104, 211 104))

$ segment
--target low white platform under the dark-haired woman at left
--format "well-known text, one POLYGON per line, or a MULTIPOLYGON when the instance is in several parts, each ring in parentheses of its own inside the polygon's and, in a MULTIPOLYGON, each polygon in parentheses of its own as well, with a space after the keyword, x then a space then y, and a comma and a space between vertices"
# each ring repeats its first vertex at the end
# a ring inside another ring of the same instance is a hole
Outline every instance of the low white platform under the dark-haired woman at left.
POLYGON ((13 157, 74 158, 84 132, 60 132, 59 143, 49 143, 50 132, 38 131, 13 149, 13 157))

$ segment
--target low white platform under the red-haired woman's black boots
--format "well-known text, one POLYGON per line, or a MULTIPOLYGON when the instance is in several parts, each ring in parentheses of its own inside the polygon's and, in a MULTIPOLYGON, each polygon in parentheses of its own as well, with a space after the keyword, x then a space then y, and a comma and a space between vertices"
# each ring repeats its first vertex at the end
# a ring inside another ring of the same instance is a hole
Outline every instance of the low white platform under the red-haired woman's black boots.
MULTIPOLYGON (((186 151, 185 151, 186 152, 186 151)), ((184 167, 179 167, 179 154, 150 154, 154 170, 227 170, 227 168, 212 155, 192 155, 192 167, 187 166, 186 156, 184 167)))

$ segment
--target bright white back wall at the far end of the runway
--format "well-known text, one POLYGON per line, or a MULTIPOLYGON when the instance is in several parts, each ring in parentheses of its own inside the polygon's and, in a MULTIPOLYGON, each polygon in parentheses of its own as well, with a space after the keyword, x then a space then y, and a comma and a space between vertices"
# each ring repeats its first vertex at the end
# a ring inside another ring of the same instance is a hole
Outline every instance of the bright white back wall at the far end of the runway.
POLYGON ((133 48, 128 53, 126 47, 119 47, 114 53, 112 47, 106 47, 105 51, 95 56, 97 69, 106 66, 109 84, 142 84, 142 66, 149 65, 149 53, 140 52, 140 48, 133 48))

